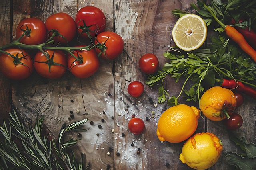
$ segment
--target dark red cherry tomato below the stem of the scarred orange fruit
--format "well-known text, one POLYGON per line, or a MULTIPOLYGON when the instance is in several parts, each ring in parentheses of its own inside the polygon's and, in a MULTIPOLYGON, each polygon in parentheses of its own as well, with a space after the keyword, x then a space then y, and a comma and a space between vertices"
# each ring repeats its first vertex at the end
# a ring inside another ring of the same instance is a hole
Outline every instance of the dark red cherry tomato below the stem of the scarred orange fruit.
POLYGON ((243 124, 243 118, 238 113, 232 113, 229 119, 224 119, 226 127, 230 130, 236 130, 243 124))

